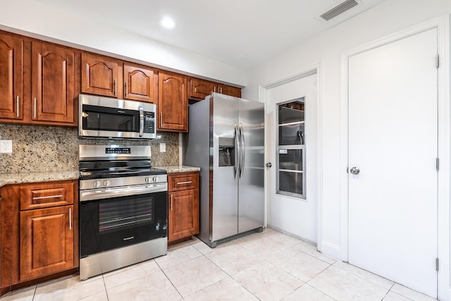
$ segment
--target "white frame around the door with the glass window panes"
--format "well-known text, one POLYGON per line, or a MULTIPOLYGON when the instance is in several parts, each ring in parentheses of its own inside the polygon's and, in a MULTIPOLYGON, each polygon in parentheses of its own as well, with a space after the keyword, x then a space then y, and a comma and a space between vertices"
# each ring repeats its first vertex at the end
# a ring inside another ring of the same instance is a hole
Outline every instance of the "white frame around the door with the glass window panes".
MULTIPOLYGON (((280 75, 278 79, 271 80, 266 82, 265 84, 259 85, 259 102, 263 102, 265 105, 265 124, 267 123, 266 119, 266 111, 267 111, 267 98, 268 98, 268 90, 277 87, 280 85, 284 85, 288 82, 292 82, 295 80, 299 80, 300 78, 305 78, 309 75, 313 75, 316 73, 317 87, 316 87, 316 99, 317 99, 317 113, 316 113, 316 135, 318 137, 318 156, 316 157, 316 166, 318 166, 318 176, 316 180, 318 181, 318 185, 316 186, 317 192, 317 235, 316 235, 316 249, 321 250, 321 242, 322 242, 322 225, 323 225, 323 75, 321 72, 321 62, 319 63, 311 63, 309 65, 303 66, 297 70, 292 71, 286 75, 280 75)), ((268 149, 266 137, 267 137, 267 127, 265 126, 265 164, 268 162, 268 155, 266 150, 268 149)), ((275 162, 271 162, 273 164, 273 168, 275 166, 275 162)), ((270 198, 270 190, 268 189, 268 168, 265 167, 264 173, 264 183, 265 183, 265 210, 264 210, 264 227, 268 226, 268 204, 270 198)), ((290 234, 290 233, 287 233, 290 234)))

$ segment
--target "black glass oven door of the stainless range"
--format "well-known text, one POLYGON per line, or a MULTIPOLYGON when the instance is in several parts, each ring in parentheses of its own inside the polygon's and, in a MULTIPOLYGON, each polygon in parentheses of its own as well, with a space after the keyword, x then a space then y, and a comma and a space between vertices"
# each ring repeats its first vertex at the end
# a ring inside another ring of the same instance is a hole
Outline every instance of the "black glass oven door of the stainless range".
MULTIPOLYGON (((92 199, 80 192, 80 258, 167 236, 167 191, 128 195, 111 190, 120 196, 92 199)), ((101 197, 105 192, 91 193, 101 197)))

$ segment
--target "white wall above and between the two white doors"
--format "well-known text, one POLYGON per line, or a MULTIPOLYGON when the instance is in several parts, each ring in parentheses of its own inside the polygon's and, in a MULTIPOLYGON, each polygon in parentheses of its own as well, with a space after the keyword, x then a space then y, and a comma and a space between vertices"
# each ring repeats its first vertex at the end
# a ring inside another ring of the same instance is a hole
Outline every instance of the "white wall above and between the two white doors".
POLYGON ((341 23, 326 32, 311 37, 249 70, 248 85, 243 98, 259 99, 259 85, 288 78, 305 66, 321 63, 322 102, 322 251, 341 258, 340 238, 340 55, 354 47, 404 30, 407 27, 451 12, 450 0, 387 0, 341 23))

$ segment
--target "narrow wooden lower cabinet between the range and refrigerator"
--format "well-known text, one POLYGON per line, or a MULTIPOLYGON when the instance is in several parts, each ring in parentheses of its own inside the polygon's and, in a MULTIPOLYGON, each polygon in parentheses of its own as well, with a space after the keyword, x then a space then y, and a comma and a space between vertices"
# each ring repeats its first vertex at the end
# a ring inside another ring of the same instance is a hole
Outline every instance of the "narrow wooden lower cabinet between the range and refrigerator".
POLYGON ((199 233, 199 173, 168 174, 168 242, 199 233))

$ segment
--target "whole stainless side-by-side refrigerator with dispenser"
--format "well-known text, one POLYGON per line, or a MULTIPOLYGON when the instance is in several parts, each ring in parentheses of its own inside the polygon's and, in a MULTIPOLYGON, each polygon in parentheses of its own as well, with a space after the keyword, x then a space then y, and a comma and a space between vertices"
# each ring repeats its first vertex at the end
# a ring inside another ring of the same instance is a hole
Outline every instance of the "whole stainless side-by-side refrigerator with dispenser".
POLYGON ((213 93, 189 108, 184 164, 199 166, 210 247, 264 226, 264 104, 213 93))

